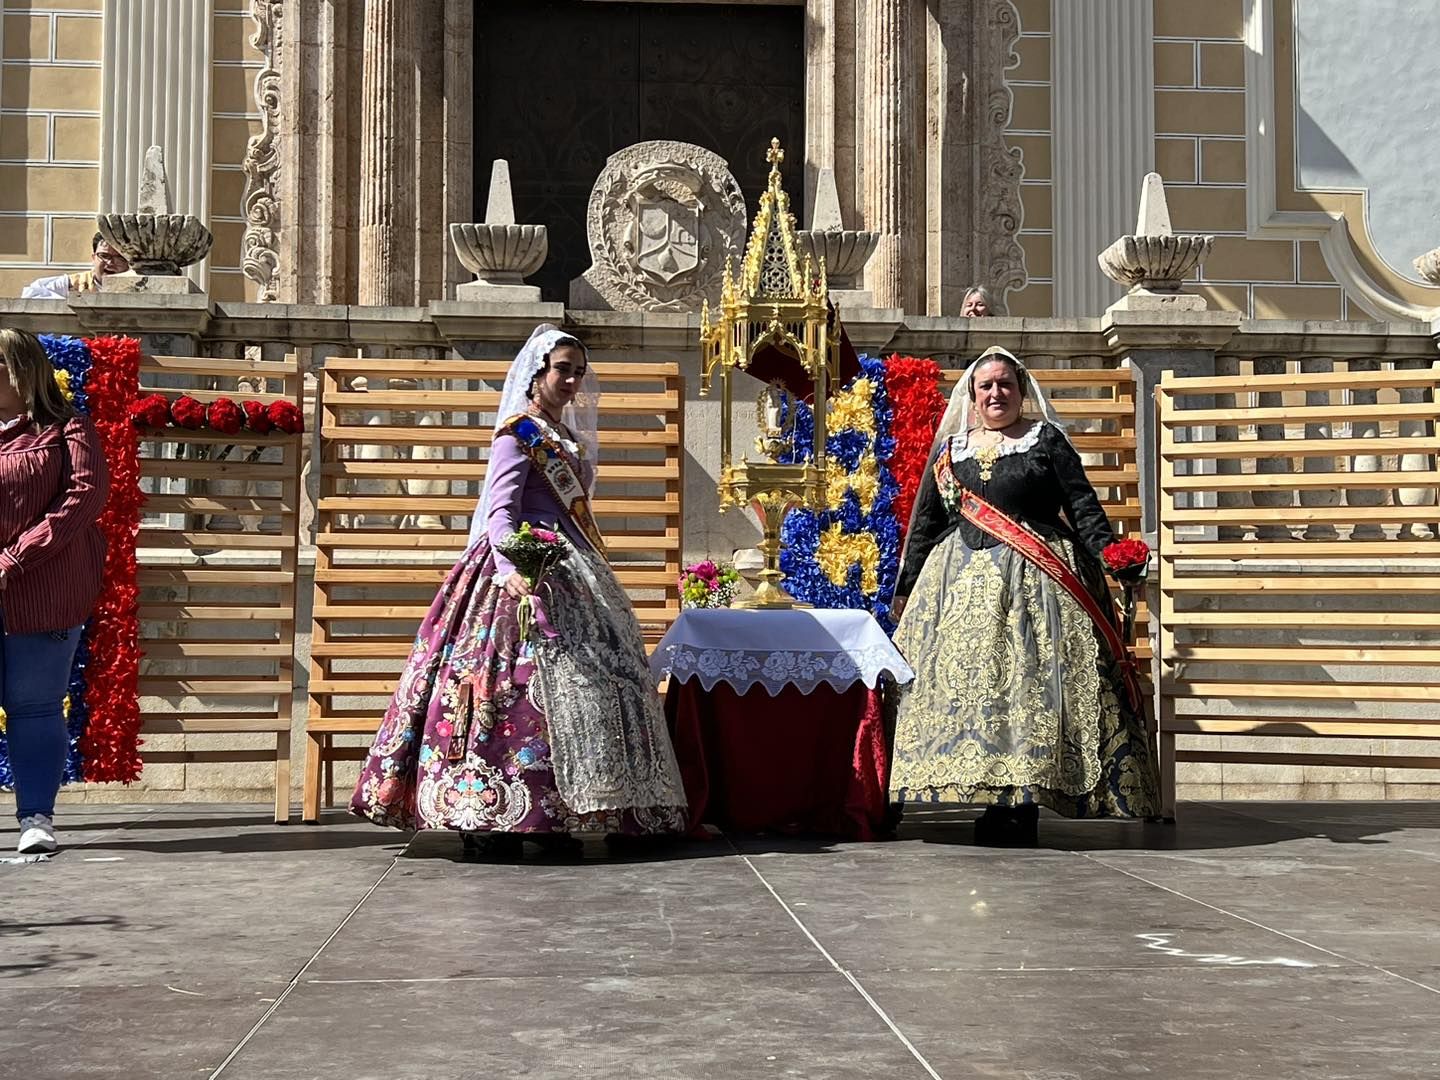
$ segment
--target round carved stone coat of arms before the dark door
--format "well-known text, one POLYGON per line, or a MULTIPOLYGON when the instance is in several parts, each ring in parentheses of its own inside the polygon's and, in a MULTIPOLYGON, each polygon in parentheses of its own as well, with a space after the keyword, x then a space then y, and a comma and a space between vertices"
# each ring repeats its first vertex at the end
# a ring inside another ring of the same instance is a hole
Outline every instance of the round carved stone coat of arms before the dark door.
POLYGON ((744 248, 744 197, 719 154, 636 143, 605 163, 586 232, 592 265, 572 285, 573 307, 698 311, 719 298, 724 265, 744 248))

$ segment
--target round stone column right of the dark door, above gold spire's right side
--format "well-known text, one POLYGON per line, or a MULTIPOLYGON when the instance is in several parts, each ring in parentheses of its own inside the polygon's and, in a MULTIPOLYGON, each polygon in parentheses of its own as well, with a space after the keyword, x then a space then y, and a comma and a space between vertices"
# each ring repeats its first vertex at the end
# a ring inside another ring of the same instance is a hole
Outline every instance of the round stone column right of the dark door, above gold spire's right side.
POLYGON ((880 233, 865 269, 876 307, 920 311, 916 226, 919 16, 912 0, 871 0, 864 13, 861 228, 880 233))

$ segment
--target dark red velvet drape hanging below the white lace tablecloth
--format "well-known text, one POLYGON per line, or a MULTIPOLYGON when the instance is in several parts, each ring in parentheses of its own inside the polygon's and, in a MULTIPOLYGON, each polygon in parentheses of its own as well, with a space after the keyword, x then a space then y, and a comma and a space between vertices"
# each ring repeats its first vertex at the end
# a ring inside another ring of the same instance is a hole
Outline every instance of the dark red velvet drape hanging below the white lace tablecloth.
POLYGON ((690 802, 690 827, 814 832, 873 840, 886 832, 890 756, 883 691, 854 683, 772 697, 756 685, 671 681, 665 717, 690 802))

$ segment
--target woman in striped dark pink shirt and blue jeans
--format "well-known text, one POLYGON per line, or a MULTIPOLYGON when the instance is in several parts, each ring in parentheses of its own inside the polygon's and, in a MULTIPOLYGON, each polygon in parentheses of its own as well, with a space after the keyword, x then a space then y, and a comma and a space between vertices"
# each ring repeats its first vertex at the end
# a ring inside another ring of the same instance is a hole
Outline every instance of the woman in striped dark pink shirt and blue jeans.
POLYGON ((108 484, 95 429, 55 384, 45 348, 23 330, 0 330, 0 707, 20 854, 58 847, 62 703, 99 596, 105 537, 95 520, 108 484))

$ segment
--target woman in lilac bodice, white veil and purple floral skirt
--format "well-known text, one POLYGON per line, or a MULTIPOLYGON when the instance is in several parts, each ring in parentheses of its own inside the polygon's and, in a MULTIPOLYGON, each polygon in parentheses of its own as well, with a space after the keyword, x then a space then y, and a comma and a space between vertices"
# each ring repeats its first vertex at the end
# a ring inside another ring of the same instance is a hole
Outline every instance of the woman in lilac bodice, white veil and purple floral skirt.
POLYGON ((576 834, 684 828, 639 624, 590 508, 598 397, 585 347, 537 327, 505 376, 469 546, 420 624, 356 814, 458 829, 467 854, 507 861, 526 837, 576 858, 576 834), (501 550, 523 526, 564 537, 539 583, 501 550))

